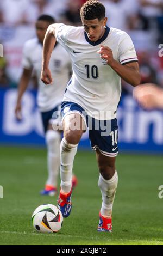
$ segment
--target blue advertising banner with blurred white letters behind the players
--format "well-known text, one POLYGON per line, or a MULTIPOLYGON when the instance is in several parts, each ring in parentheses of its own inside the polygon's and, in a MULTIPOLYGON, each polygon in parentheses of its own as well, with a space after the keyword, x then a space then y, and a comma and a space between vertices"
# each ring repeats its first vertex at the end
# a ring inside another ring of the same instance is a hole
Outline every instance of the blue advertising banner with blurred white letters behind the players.
MULTIPOLYGON (((16 89, 0 89, 0 143, 45 145, 41 116, 36 107, 36 92, 23 96, 22 121, 15 119, 16 89)), ((163 111, 145 111, 131 96, 123 96, 117 112, 120 151, 163 153, 163 111)), ((88 132, 80 148, 90 149, 88 132)))

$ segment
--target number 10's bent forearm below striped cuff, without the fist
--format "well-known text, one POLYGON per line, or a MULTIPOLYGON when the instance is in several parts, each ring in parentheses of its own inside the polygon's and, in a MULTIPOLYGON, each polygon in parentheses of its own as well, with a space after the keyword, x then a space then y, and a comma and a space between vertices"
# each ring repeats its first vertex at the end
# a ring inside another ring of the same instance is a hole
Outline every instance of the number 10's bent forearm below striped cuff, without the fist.
POLYGON ((137 62, 121 65, 116 60, 113 60, 110 66, 127 83, 134 87, 140 84, 139 64, 137 62))

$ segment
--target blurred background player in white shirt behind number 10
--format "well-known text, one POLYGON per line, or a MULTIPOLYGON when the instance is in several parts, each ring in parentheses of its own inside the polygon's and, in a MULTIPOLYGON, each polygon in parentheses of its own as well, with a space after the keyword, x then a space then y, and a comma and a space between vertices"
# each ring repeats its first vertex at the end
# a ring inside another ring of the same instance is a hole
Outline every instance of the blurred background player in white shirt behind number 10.
MULTIPOLYGON (((18 86, 18 96, 15 108, 17 118, 21 114, 21 101, 24 92, 30 81, 32 71, 36 73, 39 82, 39 90, 37 93, 37 105, 41 112, 42 123, 45 131, 47 144, 47 160, 48 160, 48 179, 46 181, 45 190, 41 194, 53 196, 57 193, 57 180, 60 166, 60 141, 61 132, 53 130, 56 123, 61 120, 53 118, 59 115, 62 97, 64 96, 66 84, 70 78, 71 59, 67 51, 60 45, 55 45, 50 62, 52 77, 55 78, 54 84, 45 86, 40 80, 41 61, 42 61, 42 44, 45 33, 50 24, 54 23, 53 17, 49 15, 41 15, 36 21, 37 37, 26 42, 23 48, 23 73, 18 86)), ((60 124, 61 125, 61 124, 60 124)), ((73 177, 74 183, 77 182, 73 177)), ((75 184, 74 184, 75 185, 75 184)))

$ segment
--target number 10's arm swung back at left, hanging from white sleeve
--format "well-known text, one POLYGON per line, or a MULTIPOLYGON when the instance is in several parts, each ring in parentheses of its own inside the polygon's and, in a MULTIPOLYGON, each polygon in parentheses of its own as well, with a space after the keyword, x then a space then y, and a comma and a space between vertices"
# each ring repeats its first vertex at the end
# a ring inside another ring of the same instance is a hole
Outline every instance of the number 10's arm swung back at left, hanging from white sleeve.
POLYGON ((41 80, 45 84, 53 83, 51 71, 48 66, 56 42, 54 37, 56 27, 57 24, 50 25, 43 40, 41 80))

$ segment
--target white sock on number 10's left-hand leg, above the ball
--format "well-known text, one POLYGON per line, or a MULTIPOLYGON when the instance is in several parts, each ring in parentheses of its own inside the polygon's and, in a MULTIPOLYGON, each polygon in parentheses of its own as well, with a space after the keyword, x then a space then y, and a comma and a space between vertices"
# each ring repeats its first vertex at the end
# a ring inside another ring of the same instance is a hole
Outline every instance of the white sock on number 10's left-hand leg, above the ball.
POLYGON ((65 138, 62 139, 60 144, 61 153, 61 166, 60 166, 60 178, 61 178, 61 190, 65 193, 71 191, 72 187, 72 167, 74 156, 77 153, 78 144, 70 144, 65 138))

